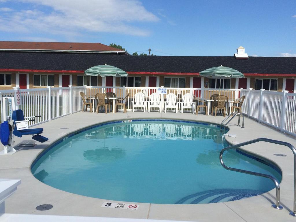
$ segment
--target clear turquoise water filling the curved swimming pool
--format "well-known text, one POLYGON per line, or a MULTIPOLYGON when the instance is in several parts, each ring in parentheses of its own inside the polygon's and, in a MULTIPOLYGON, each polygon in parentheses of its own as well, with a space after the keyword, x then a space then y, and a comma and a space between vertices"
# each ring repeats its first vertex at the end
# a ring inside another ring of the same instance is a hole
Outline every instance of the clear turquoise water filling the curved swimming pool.
MULTIPOLYGON (((255 196, 274 188, 268 178, 224 169, 220 128, 210 124, 133 121, 82 131, 52 147, 33 166, 40 181, 107 200, 196 204, 255 196)), ((281 175, 231 150, 224 163, 281 175)))

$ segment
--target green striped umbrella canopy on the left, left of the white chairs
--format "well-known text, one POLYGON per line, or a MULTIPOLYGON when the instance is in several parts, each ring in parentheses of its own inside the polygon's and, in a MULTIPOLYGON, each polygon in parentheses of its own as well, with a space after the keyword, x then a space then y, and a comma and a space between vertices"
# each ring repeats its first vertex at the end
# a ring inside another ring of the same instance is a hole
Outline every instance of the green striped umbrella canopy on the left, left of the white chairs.
POLYGON ((128 74, 112 65, 96 65, 84 71, 84 75, 91 75, 91 76, 116 76, 116 77, 126 77, 128 74))

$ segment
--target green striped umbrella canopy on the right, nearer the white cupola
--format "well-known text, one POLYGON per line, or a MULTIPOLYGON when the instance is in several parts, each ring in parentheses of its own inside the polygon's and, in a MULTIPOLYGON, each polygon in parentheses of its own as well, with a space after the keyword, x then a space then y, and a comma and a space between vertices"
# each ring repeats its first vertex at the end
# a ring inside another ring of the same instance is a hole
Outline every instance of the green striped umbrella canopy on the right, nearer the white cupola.
POLYGON ((241 72, 225 67, 225 66, 218 66, 212 67, 200 72, 200 76, 203 77, 228 77, 228 78, 244 78, 244 74, 241 72))

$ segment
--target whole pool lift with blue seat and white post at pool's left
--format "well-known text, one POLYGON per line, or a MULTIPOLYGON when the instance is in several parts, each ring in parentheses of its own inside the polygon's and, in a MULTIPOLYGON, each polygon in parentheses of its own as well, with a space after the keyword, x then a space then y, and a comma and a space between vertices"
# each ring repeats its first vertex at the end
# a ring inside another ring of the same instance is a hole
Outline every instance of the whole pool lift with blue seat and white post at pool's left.
POLYGON ((3 154, 13 154, 16 152, 16 150, 13 147, 13 136, 22 137, 24 135, 32 135, 32 139, 38 142, 44 143, 45 141, 48 141, 48 138, 40 135, 43 132, 43 128, 28 128, 28 122, 35 121, 35 119, 25 119, 38 117, 41 116, 38 115, 24 117, 24 113, 22 110, 13 110, 12 119, 9 119, 9 121, 4 121, 3 123, 1 123, 0 139, 1 143, 4 145, 4 151, 2 151, 3 154))

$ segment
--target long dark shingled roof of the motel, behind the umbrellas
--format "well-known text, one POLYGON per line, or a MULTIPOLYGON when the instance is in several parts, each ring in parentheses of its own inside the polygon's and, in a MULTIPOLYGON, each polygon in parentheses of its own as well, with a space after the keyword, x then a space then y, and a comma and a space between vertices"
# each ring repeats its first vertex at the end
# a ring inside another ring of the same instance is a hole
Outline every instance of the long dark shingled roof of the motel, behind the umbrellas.
POLYGON ((86 70, 113 65, 127 72, 199 73, 227 66, 242 73, 296 74, 296 57, 118 56, 79 53, 0 52, 0 69, 86 70))

